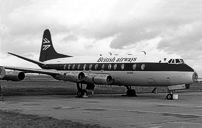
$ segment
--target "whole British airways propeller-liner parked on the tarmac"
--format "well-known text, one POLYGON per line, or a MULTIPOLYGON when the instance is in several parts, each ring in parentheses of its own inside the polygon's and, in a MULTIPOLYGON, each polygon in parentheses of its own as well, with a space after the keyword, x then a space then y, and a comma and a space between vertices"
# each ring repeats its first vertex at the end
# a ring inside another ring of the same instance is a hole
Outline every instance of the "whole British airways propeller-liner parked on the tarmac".
POLYGON ((167 58, 152 60, 151 57, 145 60, 145 55, 73 57, 57 53, 48 29, 43 33, 39 61, 8 54, 37 64, 41 69, 0 66, 1 79, 12 80, 15 76, 18 78, 15 80, 23 80, 25 73, 46 74, 56 80, 76 83, 77 97, 87 96, 87 90, 93 91, 95 85, 118 85, 126 87, 126 96, 136 96, 133 86, 168 87, 166 99, 172 100, 175 90, 188 89, 198 78, 194 69, 181 58, 167 61, 167 58), (14 73, 8 75, 5 69, 14 70, 14 73))

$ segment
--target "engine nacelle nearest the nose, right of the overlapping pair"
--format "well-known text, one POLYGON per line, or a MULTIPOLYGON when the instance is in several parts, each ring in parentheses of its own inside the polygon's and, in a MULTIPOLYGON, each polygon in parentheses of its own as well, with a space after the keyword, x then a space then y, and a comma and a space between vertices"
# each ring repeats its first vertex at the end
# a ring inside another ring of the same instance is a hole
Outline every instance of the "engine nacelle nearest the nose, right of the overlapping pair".
POLYGON ((109 74, 85 74, 85 83, 99 84, 99 85, 111 85, 114 79, 109 74))

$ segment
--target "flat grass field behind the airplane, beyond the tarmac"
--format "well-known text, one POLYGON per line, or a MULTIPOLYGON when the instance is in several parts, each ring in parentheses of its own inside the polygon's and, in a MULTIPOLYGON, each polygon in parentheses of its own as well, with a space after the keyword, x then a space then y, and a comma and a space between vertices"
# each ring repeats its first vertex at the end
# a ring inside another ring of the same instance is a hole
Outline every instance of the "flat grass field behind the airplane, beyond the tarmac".
MULTIPOLYGON (((1 81, 4 96, 11 95, 75 95, 77 93, 76 83, 54 80, 50 76, 37 75, 26 76, 25 80, 19 82, 1 81)), ((137 93, 151 92, 153 87, 134 87, 137 93)), ((166 87, 157 88, 158 92, 167 92, 166 87)), ((202 84, 192 84, 188 90, 178 92, 202 91, 202 84)), ((96 86, 95 94, 125 94, 123 86, 96 86)))

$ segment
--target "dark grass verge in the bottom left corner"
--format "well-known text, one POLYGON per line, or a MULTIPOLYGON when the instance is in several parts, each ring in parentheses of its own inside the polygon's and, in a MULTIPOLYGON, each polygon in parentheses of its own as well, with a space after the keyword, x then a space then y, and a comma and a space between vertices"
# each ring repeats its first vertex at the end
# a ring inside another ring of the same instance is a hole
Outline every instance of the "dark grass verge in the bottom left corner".
POLYGON ((26 115, 0 110, 0 128, 104 128, 98 124, 84 124, 52 117, 26 115))

